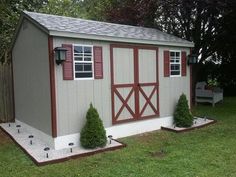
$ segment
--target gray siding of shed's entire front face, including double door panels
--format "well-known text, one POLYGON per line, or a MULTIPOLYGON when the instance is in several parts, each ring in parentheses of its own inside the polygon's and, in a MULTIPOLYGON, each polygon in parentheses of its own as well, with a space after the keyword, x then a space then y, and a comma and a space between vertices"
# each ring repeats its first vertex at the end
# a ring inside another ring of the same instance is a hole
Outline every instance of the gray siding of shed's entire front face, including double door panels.
MULTIPOLYGON (((54 47, 60 47, 62 44, 86 44, 94 46, 102 46, 103 48, 103 79, 94 80, 71 80, 64 81, 62 67, 56 66, 56 97, 57 97, 57 124, 58 136, 78 133, 85 124, 86 112, 89 104, 97 108, 105 127, 112 126, 112 111, 111 111, 111 73, 110 73, 110 43, 98 42, 89 40, 55 38, 54 47)), ((189 99, 189 67, 187 68, 187 77, 164 77, 164 50, 186 50, 186 48, 168 48, 157 46, 158 52, 158 70, 159 70, 159 102, 160 102, 160 117, 173 115, 175 104, 182 93, 187 95, 189 99)), ((147 68, 153 63, 153 60, 145 61, 146 58, 154 58, 154 51, 140 50, 140 67, 143 68, 139 75, 141 81, 152 81, 156 78, 156 73, 150 74, 154 69, 147 68), (149 77, 150 76, 150 77, 149 77)), ((134 81, 134 65, 133 49, 114 48, 114 83, 125 84, 134 81), (118 74, 121 73, 121 74, 118 74)), ((144 88, 146 92, 151 92, 149 88, 144 88)), ((122 96, 126 97, 129 89, 122 88, 120 90, 122 96)), ((153 97, 153 99, 156 99, 153 97)), ((117 102, 117 111, 121 102, 115 98, 117 102)), ((143 100, 144 102, 145 100, 143 100)), ((141 101, 142 102, 142 101, 141 101)), ((153 101, 154 102, 154 101, 153 101)), ((134 99, 129 100, 129 104, 134 109, 134 99)), ((156 103, 155 103, 156 104, 156 103)), ((147 109, 148 114, 152 110, 147 109)), ((127 110, 122 114, 130 114, 127 110)))

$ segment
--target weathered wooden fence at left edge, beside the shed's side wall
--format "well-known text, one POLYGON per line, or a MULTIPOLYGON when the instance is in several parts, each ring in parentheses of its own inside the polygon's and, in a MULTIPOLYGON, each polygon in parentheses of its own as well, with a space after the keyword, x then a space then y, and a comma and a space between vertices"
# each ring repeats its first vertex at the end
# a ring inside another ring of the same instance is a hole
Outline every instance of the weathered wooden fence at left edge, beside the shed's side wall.
POLYGON ((12 64, 0 62, 0 122, 14 121, 12 64))

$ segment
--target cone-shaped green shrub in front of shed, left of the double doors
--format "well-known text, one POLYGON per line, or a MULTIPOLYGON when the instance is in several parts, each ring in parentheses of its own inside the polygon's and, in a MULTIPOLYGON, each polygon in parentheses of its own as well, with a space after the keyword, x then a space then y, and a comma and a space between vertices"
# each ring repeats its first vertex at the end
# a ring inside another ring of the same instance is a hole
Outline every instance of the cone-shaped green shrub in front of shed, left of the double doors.
POLYGON ((90 104, 86 114, 86 123, 80 134, 80 143, 84 148, 103 147, 107 143, 106 130, 97 110, 90 104))

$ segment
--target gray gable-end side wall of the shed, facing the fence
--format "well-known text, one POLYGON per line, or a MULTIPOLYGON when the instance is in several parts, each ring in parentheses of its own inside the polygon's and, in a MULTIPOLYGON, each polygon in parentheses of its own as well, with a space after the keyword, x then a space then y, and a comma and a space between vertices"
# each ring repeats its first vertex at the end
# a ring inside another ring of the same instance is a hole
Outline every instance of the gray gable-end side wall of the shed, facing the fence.
POLYGON ((15 117, 51 135, 48 35, 24 20, 12 57, 15 117))

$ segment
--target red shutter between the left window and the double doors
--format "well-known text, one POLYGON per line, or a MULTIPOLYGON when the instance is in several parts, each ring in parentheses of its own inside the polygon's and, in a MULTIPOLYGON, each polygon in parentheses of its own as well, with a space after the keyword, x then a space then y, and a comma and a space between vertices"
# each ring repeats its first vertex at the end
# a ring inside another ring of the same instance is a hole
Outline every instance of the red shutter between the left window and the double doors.
POLYGON ((93 47, 93 58, 94 58, 94 78, 103 78, 103 61, 102 61, 102 47, 93 47))

